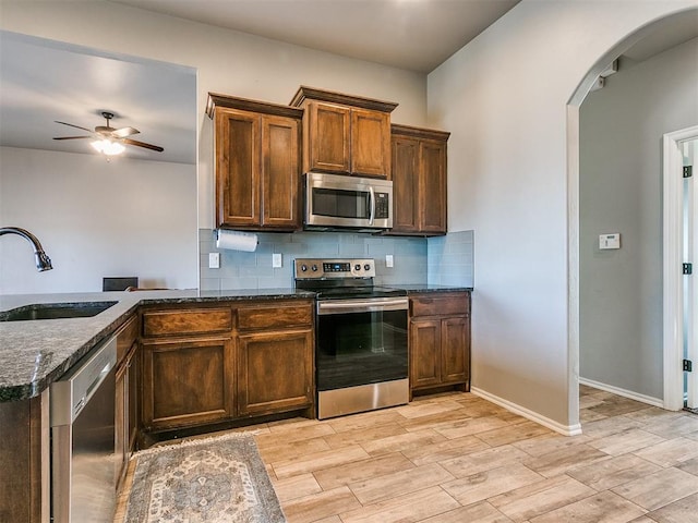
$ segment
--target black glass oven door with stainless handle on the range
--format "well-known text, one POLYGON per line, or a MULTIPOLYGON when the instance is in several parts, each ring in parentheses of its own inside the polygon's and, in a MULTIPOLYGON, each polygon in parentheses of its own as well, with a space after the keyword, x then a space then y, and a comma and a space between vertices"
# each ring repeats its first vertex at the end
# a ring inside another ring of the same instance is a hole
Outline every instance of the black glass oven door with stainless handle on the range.
POLYGON ((406 379, 407 297, 317 302, 317 390, 406 379))

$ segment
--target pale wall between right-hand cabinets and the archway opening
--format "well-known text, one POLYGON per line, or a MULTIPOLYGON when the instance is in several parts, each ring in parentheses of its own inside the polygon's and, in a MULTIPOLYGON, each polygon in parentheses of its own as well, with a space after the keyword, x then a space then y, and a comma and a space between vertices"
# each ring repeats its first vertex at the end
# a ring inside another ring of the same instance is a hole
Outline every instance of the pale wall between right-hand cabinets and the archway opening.
POLYGON ((578 423, 566 106, 626 36, 689 7, 524 0, 429 75, 429 123, 452 133, 448 221, 478 239, 473 388, 561 429, 578 423))

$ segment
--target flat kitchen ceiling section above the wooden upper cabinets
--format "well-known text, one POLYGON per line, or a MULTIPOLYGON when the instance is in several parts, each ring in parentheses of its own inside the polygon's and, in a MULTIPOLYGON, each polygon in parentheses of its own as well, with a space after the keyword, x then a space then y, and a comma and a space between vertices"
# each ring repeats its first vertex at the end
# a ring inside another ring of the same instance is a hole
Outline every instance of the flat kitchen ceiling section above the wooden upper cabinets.
POLYGON ((520 0, 111 0, 429 73, 520 0))

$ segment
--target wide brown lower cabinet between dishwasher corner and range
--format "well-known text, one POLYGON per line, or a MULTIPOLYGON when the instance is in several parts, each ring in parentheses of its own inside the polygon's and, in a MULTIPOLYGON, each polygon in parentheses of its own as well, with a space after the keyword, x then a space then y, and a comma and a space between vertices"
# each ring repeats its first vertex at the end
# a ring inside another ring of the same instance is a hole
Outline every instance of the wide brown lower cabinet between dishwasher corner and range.
POLYGON ((312 301, 146 308, 142 323, 146 433, 313 414, 312 301))

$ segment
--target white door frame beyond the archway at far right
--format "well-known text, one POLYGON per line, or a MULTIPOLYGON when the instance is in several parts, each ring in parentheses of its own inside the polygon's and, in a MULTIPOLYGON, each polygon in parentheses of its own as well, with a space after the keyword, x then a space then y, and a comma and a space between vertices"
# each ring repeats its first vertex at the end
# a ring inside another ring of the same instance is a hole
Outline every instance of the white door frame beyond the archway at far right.
POLYGON ((683 178, 682 144, 698 138, 698 125, 662 137, 663 178, 663 362, 664 409, 679 411, 684 408, 683 349, 683 178))

